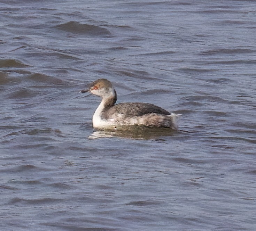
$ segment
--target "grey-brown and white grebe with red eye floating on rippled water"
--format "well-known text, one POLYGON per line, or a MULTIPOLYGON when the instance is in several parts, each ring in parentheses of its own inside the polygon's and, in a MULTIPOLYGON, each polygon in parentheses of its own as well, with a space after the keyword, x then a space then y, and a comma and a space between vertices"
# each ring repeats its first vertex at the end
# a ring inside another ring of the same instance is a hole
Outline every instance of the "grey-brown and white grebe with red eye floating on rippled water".
POLYGON ((169 113, 154 104, 121 103, 115 105, 116 91, 107 79, 98 79, 91 84, 90 89, 80 92, 91 92, 102 98, 92 117, 92 124, 95 129, 118 129, 124 125, 178 129, 176 118, 179 117, 179 114, 169 113))

